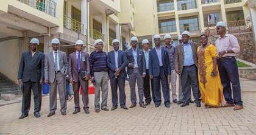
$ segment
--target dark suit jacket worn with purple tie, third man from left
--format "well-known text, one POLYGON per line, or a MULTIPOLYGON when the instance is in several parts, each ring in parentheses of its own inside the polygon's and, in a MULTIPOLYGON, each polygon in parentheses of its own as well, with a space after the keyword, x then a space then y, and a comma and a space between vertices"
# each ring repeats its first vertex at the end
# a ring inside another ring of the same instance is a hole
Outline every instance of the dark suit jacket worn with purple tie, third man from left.
POLYGON ((73 78, 74 82, 79 80, 79 72, 86 71, 87 75, 90 76, 90 63, 89 63, 89 55, 87 52, 81 52, 80 55, 80 71, 77 69, 77 58, 76 51, 69 55, 68 60, 68 76, 69 79, 73 78))

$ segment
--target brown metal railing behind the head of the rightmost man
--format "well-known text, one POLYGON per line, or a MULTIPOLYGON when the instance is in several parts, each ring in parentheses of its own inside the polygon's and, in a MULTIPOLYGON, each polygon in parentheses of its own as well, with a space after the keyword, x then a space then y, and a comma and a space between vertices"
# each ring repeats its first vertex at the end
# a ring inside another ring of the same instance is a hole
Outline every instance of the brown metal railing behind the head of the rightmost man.
MULTIPOLYGON (((252 32, 252 22, 251 20, 229 21, 226 31, 228 33, 252 32)), ((210 27, 207 27, 205 34, 208 36, 218 35, 216 29, 210 29, 210 27)))

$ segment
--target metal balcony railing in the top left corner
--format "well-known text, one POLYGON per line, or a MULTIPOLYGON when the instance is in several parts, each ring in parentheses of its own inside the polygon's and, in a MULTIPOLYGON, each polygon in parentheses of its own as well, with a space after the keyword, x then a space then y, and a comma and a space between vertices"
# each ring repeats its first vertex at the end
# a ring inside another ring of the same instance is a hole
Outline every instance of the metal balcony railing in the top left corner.
POLYGON ((56 16, 56 2, 52 0, 17 0, 51 16, 56 16))

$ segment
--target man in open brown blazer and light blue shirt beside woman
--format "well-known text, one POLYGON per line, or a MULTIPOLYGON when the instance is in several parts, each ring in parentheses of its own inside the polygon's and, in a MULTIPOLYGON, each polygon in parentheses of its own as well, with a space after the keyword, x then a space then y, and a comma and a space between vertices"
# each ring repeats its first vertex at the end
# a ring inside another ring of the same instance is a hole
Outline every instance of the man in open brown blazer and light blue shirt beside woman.
POLYGON ((180 75, 182 83, 183 103, 180 107, 190 105, 191 88, 194 102, 201 107, 199 86, 197 81, 197 44, 190 42, 190 32, 182 32, 183 43, 176 47, 174 53, 174 66, 180 75))

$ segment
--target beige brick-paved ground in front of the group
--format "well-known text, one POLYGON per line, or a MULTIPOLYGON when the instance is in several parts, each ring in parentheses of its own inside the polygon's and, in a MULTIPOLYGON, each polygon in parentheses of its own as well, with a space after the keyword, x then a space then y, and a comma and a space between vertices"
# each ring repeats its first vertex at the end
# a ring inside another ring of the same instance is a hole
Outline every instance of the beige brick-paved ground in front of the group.
MULTIPOLYGON (((49 97, 43 97, 41 117, 35 119, 32 105, 29 117, 18 120, 21 103, 0 107, 0 134, 256 134, 256 82, 241 80, 244 109, 185 108, 171 104, 155 108, 135 107, 124 110, 94 112, 93 95, 90 95, 90 114, 73 115, 74 100, 68 102, 67 116, 59 110, 47 117, 49 97)), ((111 108, 111 92, 108 108, 111 108)), ((129 88, 126 89, 127 106, 130 105, 129 88)), ((58 101, 59 102, 59 101, 58 101)), ((33 102, 32 102, 33 103, 33 102)), ((80 102, 82 103, 82 102, 80 102)), ((59 105, 59 103, 58 103, 59 105)))

